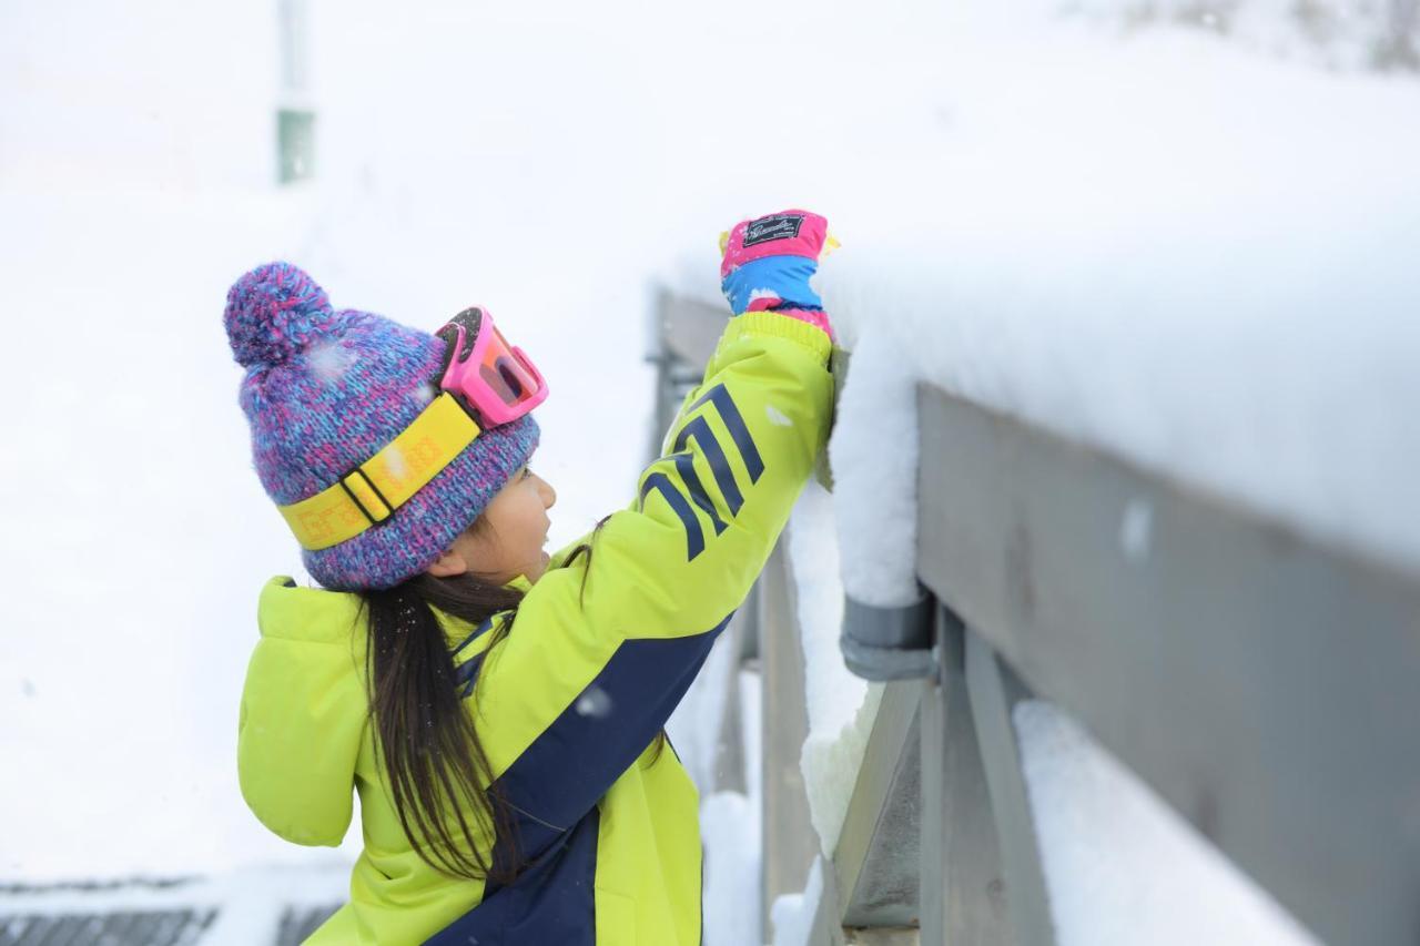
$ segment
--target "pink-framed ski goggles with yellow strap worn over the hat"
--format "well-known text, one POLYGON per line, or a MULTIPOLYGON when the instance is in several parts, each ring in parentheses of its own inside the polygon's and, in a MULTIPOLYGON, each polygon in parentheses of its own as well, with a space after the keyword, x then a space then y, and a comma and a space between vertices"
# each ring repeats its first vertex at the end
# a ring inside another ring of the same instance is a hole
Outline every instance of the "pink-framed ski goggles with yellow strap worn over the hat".
POLYGON ((508 345, 487 310, 466 308, 435 334, 447 351, 442 392, 429 406, 328 489, 277 507, 302 548, 329 548, 389 521, 480 433, 547 401, 542 375, 521 348, 508 345))

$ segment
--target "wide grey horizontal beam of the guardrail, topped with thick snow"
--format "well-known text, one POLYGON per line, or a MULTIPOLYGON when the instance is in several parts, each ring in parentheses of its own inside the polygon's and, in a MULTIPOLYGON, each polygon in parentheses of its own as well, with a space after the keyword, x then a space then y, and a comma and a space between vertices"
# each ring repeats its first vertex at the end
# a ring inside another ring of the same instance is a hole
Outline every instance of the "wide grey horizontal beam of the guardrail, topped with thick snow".
POLYGON ((919 577, 968 645, 1323 940, 1420 942, 1420 578, 932 388, 919 418, 919 577))

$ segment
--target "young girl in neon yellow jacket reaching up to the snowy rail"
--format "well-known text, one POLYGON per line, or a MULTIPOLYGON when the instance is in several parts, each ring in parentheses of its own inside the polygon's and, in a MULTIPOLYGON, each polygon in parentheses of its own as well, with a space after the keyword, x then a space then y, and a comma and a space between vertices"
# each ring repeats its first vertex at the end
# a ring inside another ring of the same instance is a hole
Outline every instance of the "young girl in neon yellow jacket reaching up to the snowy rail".
POLYGON ((662 726, 828 437, 825 227, 721 239, 736 317, 666 455, 554 555, 547 385, 486 311, 430 335, 285 263, 231 287, 257 474, 324 587, 261 591, 241 793, 307 845, 361 797, 349 903, 310 943, 700 943, 699 798, 662 726))

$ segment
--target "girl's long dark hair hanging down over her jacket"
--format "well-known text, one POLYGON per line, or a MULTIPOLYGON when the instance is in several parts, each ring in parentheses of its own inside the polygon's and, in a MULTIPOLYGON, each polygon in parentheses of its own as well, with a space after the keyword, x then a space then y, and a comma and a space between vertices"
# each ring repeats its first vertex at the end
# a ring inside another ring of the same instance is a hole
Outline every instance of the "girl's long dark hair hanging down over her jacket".
MULTIPOLYGON (((608 517, 609 518, 609 517, 608 517)), ((577 545, 562 562, 592 557, 592 540, 577 545)), ((473 534, 488 528, 480 516, 473 534)), ((582 595, 586 578, 582 578, 582 595)), ((493 780, 493 767, 454 680, 453 655, 433 608, 477 626, 507 612, 488 631, 494 646, 513 628, 523 592, 463 574, 435 578, 420 574, 383 591, 359 592, 369 615, 365 673, 369 714, 389 774, 399 824, 419 857, 436 871, 466 879, 487 878, 507 885, 523 866, 514 808, 493 780), (490 785, 487 791, 481 785, 490 785), (449 817, 452 814, 452 818, 449 817), (479 852, 474 828, 493 831, 497 847, 479 852)), ((474 696, 477 699, 477 685, 474 696)), ((656 740, 659 757, 665 732, 656 740)))

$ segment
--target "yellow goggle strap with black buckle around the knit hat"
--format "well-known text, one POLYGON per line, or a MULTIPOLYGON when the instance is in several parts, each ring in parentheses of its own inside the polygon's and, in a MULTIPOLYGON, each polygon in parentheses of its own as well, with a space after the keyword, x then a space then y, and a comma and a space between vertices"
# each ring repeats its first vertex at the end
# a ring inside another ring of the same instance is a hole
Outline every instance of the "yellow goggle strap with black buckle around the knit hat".
POLYGON ((440 393, 398 437, 334 486, 277 509, 302 548, 338 545, 393 516, 481 432, 453 395, 440 393))

